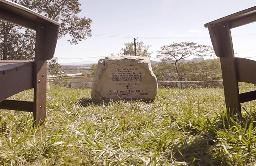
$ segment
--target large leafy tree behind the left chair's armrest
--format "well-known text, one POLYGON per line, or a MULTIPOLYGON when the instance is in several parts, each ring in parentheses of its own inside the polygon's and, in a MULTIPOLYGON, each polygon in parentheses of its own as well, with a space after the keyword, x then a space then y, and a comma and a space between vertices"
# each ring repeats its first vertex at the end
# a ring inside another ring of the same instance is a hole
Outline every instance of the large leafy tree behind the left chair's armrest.
MULTIPOLYGON (((69 35, 70 44, 91 36, 90 18, 79 18, 78 0, 11 0, 45 15, 61 24, 59 38, 69 35)), ((0 21, 0 59, 31 60, 34 58, 35 32, 0 21)))

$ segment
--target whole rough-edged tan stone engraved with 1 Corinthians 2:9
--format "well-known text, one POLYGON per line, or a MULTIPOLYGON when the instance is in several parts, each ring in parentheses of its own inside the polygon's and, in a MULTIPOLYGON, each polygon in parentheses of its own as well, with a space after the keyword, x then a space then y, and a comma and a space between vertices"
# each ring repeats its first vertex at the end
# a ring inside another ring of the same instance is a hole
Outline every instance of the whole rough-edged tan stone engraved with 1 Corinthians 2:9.
POLYGON ((156 94, 157 78, 148 57, 116 55, 98 61, 92 83, 93 101, 152 101, 156 94))

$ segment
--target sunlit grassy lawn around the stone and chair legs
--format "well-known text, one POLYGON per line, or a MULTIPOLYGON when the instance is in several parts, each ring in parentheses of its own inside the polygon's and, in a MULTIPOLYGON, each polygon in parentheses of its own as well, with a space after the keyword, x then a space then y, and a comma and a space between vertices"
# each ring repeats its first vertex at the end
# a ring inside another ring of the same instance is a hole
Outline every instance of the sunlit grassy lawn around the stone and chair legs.
MULTIPOLYGON (((152 103, 49 90, 47 120, 0 110, 0 165, 255 165, 256 102, 227 118, 223 89, 159 89, 152 103)), ((29 100, 33 91, 15 95, 29 100)))

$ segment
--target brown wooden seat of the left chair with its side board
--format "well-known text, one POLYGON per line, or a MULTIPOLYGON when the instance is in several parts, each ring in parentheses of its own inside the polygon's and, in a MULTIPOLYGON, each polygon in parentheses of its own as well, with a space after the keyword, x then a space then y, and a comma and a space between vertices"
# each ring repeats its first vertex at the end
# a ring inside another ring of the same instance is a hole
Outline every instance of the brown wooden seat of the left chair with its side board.
POLYGON ((33 88, 33 70, 34 61, 0 60, 0 103, 16 93, 33 88))

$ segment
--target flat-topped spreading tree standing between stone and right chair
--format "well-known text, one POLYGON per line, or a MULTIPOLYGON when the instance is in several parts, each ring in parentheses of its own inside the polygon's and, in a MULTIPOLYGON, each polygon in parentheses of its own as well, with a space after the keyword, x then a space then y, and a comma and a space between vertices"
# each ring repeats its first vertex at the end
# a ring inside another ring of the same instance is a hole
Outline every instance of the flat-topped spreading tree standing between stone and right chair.
POLYGON ((214 53, 211 46, 200 45, 194 42, 174 42, 170 45, 162 45, 157 52, 157 57, 159 57, 162 62, 173 62, 175 64, 178 81, 185 79, 182 73, 182 65, 177 65, 181 59, 188 58, 192 55, 199 57, 211 56, 214 53))

